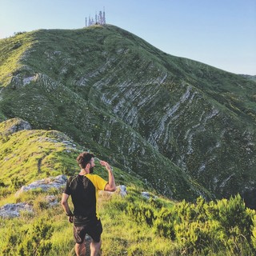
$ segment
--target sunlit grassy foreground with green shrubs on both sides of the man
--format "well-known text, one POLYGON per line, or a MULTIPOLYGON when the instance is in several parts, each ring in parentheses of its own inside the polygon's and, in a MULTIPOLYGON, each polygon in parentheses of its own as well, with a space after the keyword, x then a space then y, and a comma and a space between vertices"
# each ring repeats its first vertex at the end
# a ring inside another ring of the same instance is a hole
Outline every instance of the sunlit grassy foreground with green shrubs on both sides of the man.
MULTIPOLYGON (((246 209, 241 197, 196 204, 141 196, 139 186, 128 186, 128 195, 102 193, 102 255, 238 256, 254 255, 256 214, 246 209)), ((51 195, 61 198, 60 191, 51 195)), ((32 190, 9 198, 29 202, 33 212, 2 219, 0 255, 74 256, 72 225, 60 204, 50 206, 46 193, 32 190), (15 226, 15 229, 13 228, 15 226)))

